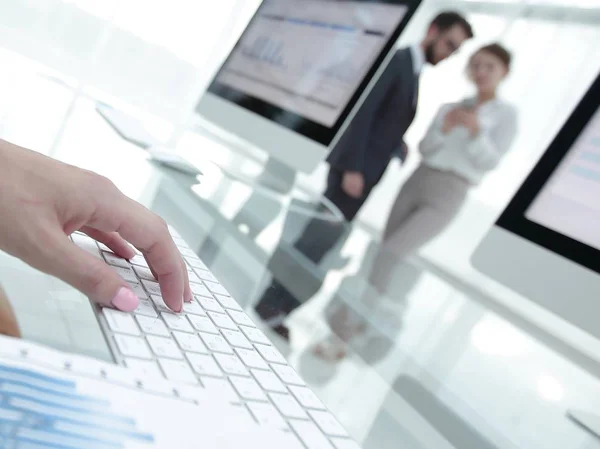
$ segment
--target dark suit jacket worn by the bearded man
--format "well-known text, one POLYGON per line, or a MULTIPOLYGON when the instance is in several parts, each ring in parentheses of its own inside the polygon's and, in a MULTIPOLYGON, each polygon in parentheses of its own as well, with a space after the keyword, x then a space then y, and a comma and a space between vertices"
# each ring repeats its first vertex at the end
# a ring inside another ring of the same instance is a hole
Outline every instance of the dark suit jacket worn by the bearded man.
POLYGON ((361 172, 376 184, 417 112, 418 76, 410 48, 398 50, 360 106, 327 162, 333 169, 361 172))

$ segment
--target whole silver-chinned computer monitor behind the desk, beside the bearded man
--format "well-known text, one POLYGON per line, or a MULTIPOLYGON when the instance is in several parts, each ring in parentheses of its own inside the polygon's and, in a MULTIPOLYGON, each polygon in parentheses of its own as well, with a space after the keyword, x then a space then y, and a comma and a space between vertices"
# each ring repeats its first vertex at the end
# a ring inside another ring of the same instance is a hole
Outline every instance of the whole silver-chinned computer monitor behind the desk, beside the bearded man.
POLYGON ((196 112, 311 171, 366 97, 419 3, 264 0, 196 112))

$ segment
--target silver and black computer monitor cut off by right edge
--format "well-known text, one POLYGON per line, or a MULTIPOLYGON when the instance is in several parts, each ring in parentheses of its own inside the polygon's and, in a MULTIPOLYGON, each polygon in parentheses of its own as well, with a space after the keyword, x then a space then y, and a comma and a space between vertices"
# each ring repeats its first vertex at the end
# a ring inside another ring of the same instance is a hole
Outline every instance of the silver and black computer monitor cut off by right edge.
MULTIPOLYGON (((600 75, 473 256, 483 273, 600 339, 600 75)), ((569 410, 600 437, 600 416, 569 410)))

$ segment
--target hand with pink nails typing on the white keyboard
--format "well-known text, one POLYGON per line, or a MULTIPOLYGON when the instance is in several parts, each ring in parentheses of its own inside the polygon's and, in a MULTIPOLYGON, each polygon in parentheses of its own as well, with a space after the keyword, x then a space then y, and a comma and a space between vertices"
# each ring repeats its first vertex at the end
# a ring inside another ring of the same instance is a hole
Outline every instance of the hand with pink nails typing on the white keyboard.
MULTIPOLYGON (((192 300, 187 270, 166 223, 109 180, 0 140, 0 250, 123 311, 139 300, 103 261, 77 247, 80 230, 125 259, 144 255, 174 311, 192 300)), ((16 300, 16 298, 13 298, 16 300)))

